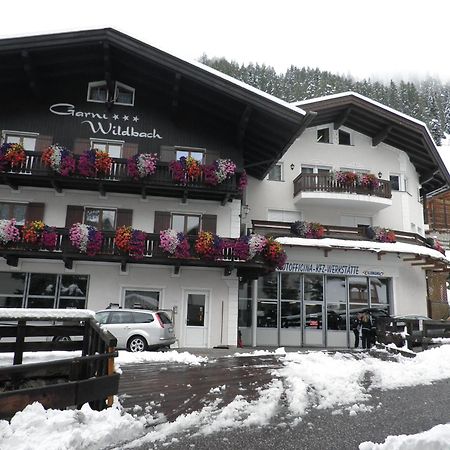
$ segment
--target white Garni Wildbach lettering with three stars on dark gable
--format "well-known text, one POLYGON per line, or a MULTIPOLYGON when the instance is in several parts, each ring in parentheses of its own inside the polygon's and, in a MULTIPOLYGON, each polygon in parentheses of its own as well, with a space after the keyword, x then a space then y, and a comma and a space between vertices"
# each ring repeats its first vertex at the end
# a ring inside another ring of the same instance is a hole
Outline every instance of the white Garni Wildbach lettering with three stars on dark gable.
POLYGON ((57 116, 75 117, 81 120, 81 124, 90 127, 93 134, 103 136, 134 137, 146 139, 162 139, 162 136, 153 128, 152 131, 139 131, 138 116, 127 114, 106 114, 90 111, 78 111, 71 103, 55 103, 50 106, 50 112, 57 116), (130 122, 130 123, 128 123, 130 122))

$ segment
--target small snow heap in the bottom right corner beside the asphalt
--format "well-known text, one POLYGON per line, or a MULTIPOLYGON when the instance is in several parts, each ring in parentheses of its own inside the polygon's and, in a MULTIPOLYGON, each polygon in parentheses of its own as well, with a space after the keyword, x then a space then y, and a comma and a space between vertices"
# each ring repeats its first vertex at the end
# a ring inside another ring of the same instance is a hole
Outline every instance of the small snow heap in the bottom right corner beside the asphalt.
POLYGON ((437 425, 423 433, 388 436, 383 444, 363 442, 359 450, 448 450, 450 448, 450 423, 437 425))

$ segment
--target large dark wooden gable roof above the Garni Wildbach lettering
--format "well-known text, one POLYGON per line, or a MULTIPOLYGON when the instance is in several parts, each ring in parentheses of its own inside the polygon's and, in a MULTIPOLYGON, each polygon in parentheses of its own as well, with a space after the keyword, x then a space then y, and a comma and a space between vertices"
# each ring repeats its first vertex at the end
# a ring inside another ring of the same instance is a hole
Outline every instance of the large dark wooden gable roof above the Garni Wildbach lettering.
POLYGON ((231 136, 249 174, 263 178, 302 133, 310 115, 197 62, 111 28, 0 40, 0 88, 35 96, 55 82, 133 81, 166 99, 176 117, 202 117, 231 136))

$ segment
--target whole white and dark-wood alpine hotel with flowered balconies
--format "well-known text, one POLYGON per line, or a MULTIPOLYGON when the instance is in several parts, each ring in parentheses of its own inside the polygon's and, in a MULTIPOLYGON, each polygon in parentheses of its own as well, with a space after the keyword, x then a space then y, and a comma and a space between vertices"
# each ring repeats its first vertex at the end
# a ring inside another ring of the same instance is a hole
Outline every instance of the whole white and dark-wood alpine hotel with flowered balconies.
POLYGON ((0 67, 0 307, 171 310, 181 347, 347 347, 358 309, 443 314, 423 123, 288 104, 112 29, 1 40, 0 67))

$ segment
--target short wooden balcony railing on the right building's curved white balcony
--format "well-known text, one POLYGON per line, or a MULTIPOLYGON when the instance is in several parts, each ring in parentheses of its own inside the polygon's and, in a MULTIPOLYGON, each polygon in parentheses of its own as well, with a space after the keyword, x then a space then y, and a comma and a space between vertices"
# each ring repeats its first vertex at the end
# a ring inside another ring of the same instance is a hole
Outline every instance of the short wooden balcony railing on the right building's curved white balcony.
POLYGON ((371 188, 356 181, 352 183, 338 181, 331 173, 301 173, 294 180, 294 197, 301 192, 342 192, 391 198, 390 182, 387 180, 378 182, 378 187, 371 188))

